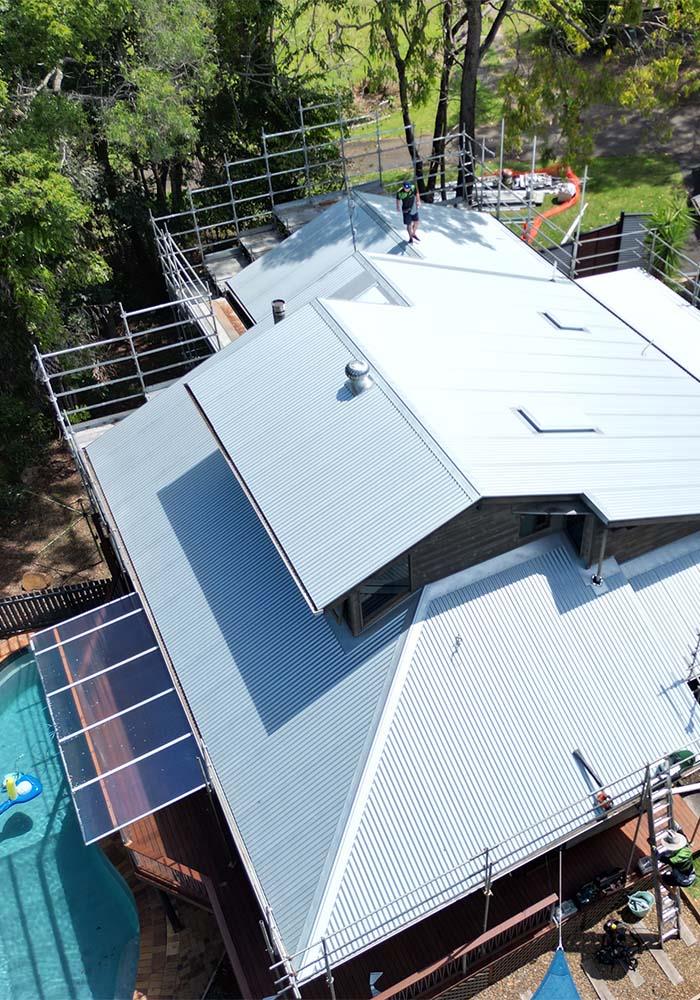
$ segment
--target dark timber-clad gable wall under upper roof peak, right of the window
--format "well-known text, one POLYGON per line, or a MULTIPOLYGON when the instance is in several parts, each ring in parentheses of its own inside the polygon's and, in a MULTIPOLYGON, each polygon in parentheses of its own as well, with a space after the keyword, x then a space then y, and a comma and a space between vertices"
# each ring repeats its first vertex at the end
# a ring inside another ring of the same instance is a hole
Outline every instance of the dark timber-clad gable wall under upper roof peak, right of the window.
POLYGON ((483 501, 419 542, 411 549, 413 589, 563 530, 563 518, 553 517, 547 530, 521 538, 520 517, 513 513, 514 506, 514 500, 483 501))

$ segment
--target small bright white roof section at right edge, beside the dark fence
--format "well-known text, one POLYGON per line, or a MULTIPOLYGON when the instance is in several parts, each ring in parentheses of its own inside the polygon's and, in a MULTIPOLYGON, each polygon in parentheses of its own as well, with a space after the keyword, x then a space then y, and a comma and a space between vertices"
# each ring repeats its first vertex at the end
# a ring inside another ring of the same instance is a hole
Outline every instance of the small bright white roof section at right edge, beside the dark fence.
POLYGON ((582 288, 700 379, 700 311, 641 268, 581 278, 582 288))

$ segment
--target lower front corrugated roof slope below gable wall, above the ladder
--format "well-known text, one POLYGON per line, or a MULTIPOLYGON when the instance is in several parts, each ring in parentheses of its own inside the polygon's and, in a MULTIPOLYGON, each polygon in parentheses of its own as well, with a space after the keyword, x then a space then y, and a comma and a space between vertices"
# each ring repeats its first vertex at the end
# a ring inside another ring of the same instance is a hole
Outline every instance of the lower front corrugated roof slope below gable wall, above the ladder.
POLYGON ((575 749, 620 804, 700 735, 678 639, 647 613, 679 580, 697 609, 699 538, 692 570, 639 578, 644 603, 612 559, 597 591, 562 536, 425 588, 319 908, 334 961, 483 884, 486 848, 498 876, 595 819, 575 749))

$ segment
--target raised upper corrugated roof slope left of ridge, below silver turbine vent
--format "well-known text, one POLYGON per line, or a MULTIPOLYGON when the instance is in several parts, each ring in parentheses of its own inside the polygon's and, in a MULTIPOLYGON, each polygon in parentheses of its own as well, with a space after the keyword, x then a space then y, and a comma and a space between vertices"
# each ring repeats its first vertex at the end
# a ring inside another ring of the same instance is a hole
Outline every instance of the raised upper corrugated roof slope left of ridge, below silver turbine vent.
POLYGON ((353 356, 309 305, 187 382, 315 610, 477 499, 380 381, 352 395, 353 356))

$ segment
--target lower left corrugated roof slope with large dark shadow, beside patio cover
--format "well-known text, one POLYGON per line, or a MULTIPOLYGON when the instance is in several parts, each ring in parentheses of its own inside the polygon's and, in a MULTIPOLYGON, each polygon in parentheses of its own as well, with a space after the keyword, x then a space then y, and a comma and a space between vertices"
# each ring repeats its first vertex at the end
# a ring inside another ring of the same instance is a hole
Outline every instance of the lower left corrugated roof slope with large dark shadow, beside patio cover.
POLYGON ((293 949, 414 606, 357 639, 313 615, 182 383, 88 456, 293 949))

